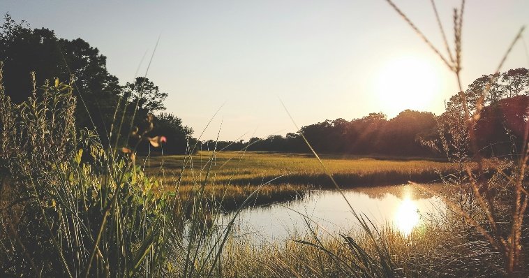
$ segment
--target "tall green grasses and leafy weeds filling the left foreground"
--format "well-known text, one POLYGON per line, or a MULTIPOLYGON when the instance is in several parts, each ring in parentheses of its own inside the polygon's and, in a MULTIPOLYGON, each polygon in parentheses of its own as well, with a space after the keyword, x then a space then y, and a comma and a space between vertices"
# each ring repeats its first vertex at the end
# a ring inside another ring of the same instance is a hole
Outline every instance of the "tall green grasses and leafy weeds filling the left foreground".
MULTIPOLYGON (((0 64, 0 273, 36 277, 203 277, 218 261, 234 219, 264 186, 255 186, 223 231, 221 200, 204 193, 209 169, 181 194, 136 166, 137 142, 153 147, 153 117, 132 147, 105 149, 91 131, 75 129, 72 87, 59 80, 16 105, 4 94, 0 64), (184 195, 184 196, 183 196, 184 195)), ((34 78, 33 78, 34 80, 34 78)), ((121 126, 121 124, 119 124, 121 126)), ((186 165, 192 158, 186 156, 186 165)), ((163 172, 163 171, 162 171, 163 172)), ((225 196, 225 192, 221 193, 225 196)))

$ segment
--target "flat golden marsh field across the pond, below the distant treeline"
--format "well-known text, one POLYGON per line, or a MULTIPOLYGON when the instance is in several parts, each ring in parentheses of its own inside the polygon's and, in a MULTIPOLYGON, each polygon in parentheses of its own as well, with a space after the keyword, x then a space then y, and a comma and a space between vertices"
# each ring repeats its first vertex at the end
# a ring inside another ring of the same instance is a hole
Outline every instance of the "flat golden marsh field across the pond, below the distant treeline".
MULTIPOLYGON (((323 163, 343 189, 421 182, 440 184, 456 173, 456 165, 442 159, 323 155, 323 163)), ((285 202, 316 189, 334 189, 331 179, 311 154, 270 152, 207 152, 191 156, 150 156, 137 161, 148 177, 179 184, 185 196, 204 185, 210 198, 233 210, 258 189, 253 205, 285 202), (185 167, 184 167, 185 164, 185 167)))

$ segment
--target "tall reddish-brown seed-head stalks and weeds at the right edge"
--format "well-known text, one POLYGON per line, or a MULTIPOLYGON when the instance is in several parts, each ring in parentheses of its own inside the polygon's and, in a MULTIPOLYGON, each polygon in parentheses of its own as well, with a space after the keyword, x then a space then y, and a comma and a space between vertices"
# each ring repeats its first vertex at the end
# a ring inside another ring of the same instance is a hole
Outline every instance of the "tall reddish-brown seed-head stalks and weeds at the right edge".
MULTIPOLYGON (((472 214, 472 210, 465 210, 465 207, 454 203, 452 200, 445 198, 445 203, 459 214, 466 223, 474 227, 477 232, 484 237, 491 247, 500 253, 503 260, 503 269, 505 275, 509 277, 519 277, 524 271, 524 260, 522 243, 523 238, 523 221, 526 217, 526 209, 529 202, 529 194, 526 182, 526 167, 529 157, 528 133, 529 122, 527 115, 529 108, 526 108, 523 115, 519 115, 522 121, 521 134, 519 136, 522 140, 521 150, 516 155, 516 159, 506 161, 506 159, 485 159, 482 155, 482 149, 479 149, 479 137, 476 133, 476 126, 478 120, 482 117, 484 110, 484 103, 486 99, 496 99, 493 85, 500 77, 500 69, 502 68, 505 59, 512 47, 518 42, 523 33, 524 27, 520 29, 514 41, 509 45, 505 56, 498 65, 496 73, 489 75, 484 80, 484 86, 478 88, 474 93, 475 99, 468 99, 461 85, 461 34, 463 29, 463 11, 465 8, 465 1, 461 1, 461 8, 454 9, 454 47, 453 51, 449 47, 445 31, 440 23, 437 9, 435 8, 435 1, 431 1, 435 17, 440 27, 440 33, 445 43, 447 57, 445 57, 437 47, 435 47, 424 34, 412 23, 412 21, 391 1, 387 0, 390 6, 403 17, 410 27, 426 42, 431 49, 438 54, 438 57, 448 66, 456 77, 459 84, 459 103, 461 107, 458 113, 461 114, 461 121, 459 122, 459 131, 456 136, 461 140, 457 140, 455 149, 461 149, 462 145, 468 145, 472 161, 477 163, 477 170, 472 170, 468 163, 463 166, 461 162, 461 170, 465 170, 466 179, 470 186, 470 193, 468 198, 475 198, 477 206, 477 215, 472 214), (463 126, 461 126, 463 125, 463 126), (486 169, 495 170, 492 178, 486 177, 486 169)), ((463 146, 465 147, 465 146, 463 146)), ((458 159, 465 160, 466 154, 463 151, 459 152, 458 159)), ((463 177, 459 179, 463 186, 463 177)), ((463 200, 461 200, 463 201, 463 200)))

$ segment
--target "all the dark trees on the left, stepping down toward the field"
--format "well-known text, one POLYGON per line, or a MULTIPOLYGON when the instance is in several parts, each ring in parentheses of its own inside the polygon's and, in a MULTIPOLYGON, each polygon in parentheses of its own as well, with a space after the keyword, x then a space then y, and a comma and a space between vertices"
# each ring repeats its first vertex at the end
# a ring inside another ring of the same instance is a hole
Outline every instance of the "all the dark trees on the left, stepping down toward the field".
MULTIPOLYGON (((55 78, 73 82, 77 128, 95 129, 105 145, 116 140, 119 145, 126 145, 131 125, 140 126, 148 114, 165 110, 163 101, 167 94, 148 78, 135 78, 121 86, 118 78, 108 73, 106 57, 96 47, 81 38, 71 41, 57 38, 50 29, 31 29, 27 22, 17 23, 9 14, 0 27, 0 61, 6 95, 15 103, 31 96, 30 73, 35 73, 36 86, 45 84, 45 80, 53 82, 55 78)), ((186 138, 193 130, 183 126, 181 119, 165 113, 154 122, 155 129, 148 135, 163 133, 167 138, 164 148, 167 153, 186 151, 186 138)), ((138 150, 147 151, 148 142, 141 142, 138 150)))

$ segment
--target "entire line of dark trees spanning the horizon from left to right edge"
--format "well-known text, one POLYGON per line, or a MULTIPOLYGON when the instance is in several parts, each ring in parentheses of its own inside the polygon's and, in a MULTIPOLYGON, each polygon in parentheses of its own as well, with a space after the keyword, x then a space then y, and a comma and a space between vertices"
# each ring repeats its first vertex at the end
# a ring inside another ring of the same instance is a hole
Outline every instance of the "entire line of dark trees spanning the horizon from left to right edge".
MULTIPOLYGON (((75 110, 79 129, 93 129, 103 143, 126 145, 131 126, 142 126, 147 115, 156 115, 148 136, 165 136, 165 154, 189 152, 197 140, 193 129, 165 111, 167 93, 148 78, 138 77, 120 85, 106 68, 106 57, 81 38, 58 38, 50 29, 32 29, 27 22, 15 22, 5 15, 0 27, 0 61, 3 86, 15 103, 33 94, 36 85, 59 78, 72 82, 77 97, 75 110), (30 78, 30 73, 35 73, 30 78), (112 131, 112 133, 111 133, 112 131), (112 136, 112 138, 110 138, 112 136)), ((504 73, 482 75, 463 92, 470 112, 485 105, 477 121, 479 147, 491 155, 505 155, 519 149, 528 119, 529 71, 514 68, 504 73), (480 100, 481 92, 488 92, 480 100)), ((200 142, 198 149, 266 152, 310 152, 304 136, 316 152, 382 156, 445 156, 465 154, 468 138, 463 103, 456 95, 445 103, 439 116, 431 112, 405 110, 392 119, 373 112, 350 121, 342 118, 303 126, 286 136, 271 135, 250 140, 200 142), (458 146, 454 152, 454 146, 458 146), (447 149, 451 147, 452 149, 447 149)), ((139 142, 139 152, 149 152, 148 142, 139 142)))

